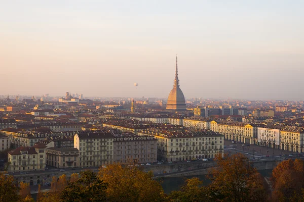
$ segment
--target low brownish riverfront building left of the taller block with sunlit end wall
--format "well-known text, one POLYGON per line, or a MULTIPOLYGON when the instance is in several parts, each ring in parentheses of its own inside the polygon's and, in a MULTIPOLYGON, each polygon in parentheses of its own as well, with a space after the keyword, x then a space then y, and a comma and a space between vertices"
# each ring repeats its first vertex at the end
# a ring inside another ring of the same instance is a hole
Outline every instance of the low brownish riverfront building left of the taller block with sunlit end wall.
POLYGON ((46 164, 57 168, 74 168, 79 166, 79 150, 70 147, 50 147, 46 150, 46 164))

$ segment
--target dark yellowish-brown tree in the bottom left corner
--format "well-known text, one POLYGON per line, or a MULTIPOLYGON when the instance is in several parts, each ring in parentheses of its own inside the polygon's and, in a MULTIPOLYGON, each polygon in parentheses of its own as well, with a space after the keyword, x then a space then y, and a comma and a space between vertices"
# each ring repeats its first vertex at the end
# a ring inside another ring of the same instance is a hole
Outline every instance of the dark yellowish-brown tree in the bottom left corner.
POLYGON ((14 177, 6 172, 0 173, 0 202, 15 202, 19 199, 19 187, 14 183, 14 177))

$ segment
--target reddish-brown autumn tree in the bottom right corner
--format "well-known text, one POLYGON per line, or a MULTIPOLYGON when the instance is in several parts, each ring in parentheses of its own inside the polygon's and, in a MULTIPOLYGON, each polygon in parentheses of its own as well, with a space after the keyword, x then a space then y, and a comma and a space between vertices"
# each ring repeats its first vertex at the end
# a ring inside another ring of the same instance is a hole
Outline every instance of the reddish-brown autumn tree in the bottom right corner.
POLYGON ((281 162, 273 170, 273 201, 301 201, 304 189, 304 161, 281 162))

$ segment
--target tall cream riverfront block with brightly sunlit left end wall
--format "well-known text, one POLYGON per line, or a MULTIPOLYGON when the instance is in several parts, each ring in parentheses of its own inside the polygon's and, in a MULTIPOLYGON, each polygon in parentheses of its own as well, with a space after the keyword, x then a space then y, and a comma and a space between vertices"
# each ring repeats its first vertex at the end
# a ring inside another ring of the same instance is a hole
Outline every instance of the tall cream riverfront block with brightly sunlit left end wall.
POLYGON ((79 166, 95 167, 113 163, 114 137, 114 134, 108 131, 75 134, 74 148, 79 150, 79 166))

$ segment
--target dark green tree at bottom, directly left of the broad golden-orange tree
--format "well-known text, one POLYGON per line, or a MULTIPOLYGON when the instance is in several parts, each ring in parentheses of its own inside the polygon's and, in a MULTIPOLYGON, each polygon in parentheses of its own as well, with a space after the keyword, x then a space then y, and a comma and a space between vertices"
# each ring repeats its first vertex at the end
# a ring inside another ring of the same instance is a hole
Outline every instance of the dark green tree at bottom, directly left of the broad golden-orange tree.
POLYGON ((106 201, 106 185, 90 170, 80 173, 77 181, 69 182, 60 198, 65 202, 106 201))

